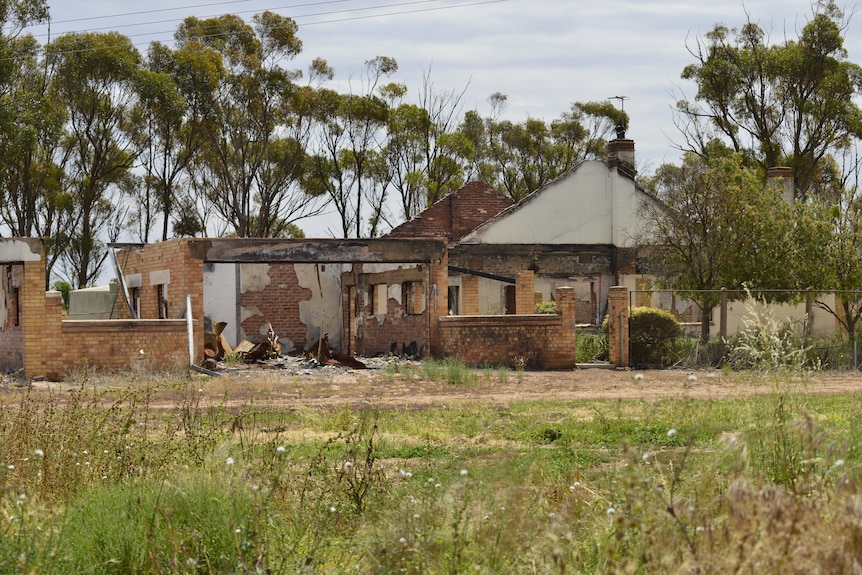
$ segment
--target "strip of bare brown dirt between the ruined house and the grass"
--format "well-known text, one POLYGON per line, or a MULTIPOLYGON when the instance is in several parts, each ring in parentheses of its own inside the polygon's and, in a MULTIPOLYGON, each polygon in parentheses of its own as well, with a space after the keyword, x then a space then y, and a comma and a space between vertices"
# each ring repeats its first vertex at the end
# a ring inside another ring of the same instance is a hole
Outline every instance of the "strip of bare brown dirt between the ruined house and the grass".
MULTIPOLYGON (((303 367, 295 362, 276 365, 223 367, 219 377, 192 372, 194 385, 202 397, 243 405, 250 399, 270 407, 334 409, 374 405, 387 409, 423 409, 456 402, 506 405, 516 401, 578 401, 615 399, 698 398, 722 399, 768 394, 775 383, 751 374, 721 371, 614 370, 603 368, 572 371, 477 370, 476 381, 453 385, 445 381, 420 379, 421 366, 402 362, 398 369, 390 363, 372 363, 371 369, 303 367), (388 365, 388 367, 387 367, 388 365)), ((100 377, 86 385, 123 388, 139 386, 145 378, 134 375, 100 377)), ((782 379, 782 384, 787 383, 782 379)), ((811 395, 862 392, 862 373, 824 372, 792 380, 795 389, 811 395)), ((64 395, 79 382, 34 382, 37 391, 64 395)), ((23 387, 23 388, 26 388, 23 387)), ((0 391, 23 389, 8 384, 0 391)), ((177 394, 162 392, 155 407, 176 405, 177 394)))

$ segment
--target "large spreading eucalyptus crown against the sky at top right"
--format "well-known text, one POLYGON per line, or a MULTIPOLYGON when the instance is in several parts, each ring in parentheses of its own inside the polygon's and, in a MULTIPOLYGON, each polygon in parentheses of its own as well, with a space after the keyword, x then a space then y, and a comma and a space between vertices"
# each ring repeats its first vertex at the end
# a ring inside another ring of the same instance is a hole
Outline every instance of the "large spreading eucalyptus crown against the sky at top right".
POLYGON ((677 102, 678 147, 704 155, 720 139, 763 173, 792 167, 798 197, 817 195, 829 155, 862 136, 862 68, 847 60, 846 26, 832 0, 815 4, 797 39, 775 44, 750 19, 715 26, 682 72, 697 93, 677 102))

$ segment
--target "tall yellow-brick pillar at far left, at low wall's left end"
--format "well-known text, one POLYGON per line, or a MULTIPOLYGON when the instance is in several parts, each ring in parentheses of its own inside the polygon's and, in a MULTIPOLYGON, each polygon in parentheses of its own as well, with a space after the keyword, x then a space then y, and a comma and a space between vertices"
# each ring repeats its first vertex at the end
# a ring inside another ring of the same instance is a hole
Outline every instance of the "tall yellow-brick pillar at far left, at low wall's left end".
POLYGON ((60 332, 48 331, 45 323, 44 246, 41 247, 39 261, 24 262, 24 286, 19 293, 21 325, 24 328, 24 377, 30 379, 45 375, 45 360, 49 347, 63 345, 60 332))

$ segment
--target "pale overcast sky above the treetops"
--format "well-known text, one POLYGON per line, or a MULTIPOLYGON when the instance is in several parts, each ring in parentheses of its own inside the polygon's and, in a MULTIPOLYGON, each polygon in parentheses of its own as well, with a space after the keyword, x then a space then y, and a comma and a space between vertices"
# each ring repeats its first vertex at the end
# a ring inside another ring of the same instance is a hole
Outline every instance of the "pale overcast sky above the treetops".
MULTIPOLYGON (((182 18, 264 10, 290 16, 303 41, 297 68, 322 57, 346 90, 363 63, 390 56, 392 80, 415 94, 430 69, 438 90, 467 92, 465 109, 489 112, 494 92, 508 96, 506 116, 550 121, 572 102, 625 96, 627 136, 641 169, 677 162, 671 107, 691 85, 679 76, 693 62, 687 46, 718 22, 744 24, 746 13, 773 41, 796 38, 811 17, 808 0, 49 0, 51 35, 116 30, 144 50, 170 42, 182 18)), ((853 3, 842 3, 847 15, 853 3)), ((851 18, 845 47, 862 63, 862 21, 851 18)), ((32 32, 44 43, 45 27, 32 32)), ((614 100, 617 102, 617 100, 614 100)), ((304 227, 304 226, 303 226, 304 227)))

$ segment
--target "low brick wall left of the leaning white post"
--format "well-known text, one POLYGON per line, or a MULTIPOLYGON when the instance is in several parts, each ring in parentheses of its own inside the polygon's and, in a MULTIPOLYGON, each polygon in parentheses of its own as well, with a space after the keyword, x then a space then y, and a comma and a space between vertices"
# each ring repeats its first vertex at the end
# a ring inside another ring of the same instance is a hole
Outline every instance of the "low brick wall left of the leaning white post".
POLYGON ((45 375, 52 380, 84 367, 158 373, 189 364, 185 320, 64 320, 61 334, 47 350, 45 375))

